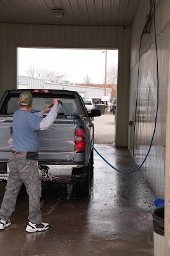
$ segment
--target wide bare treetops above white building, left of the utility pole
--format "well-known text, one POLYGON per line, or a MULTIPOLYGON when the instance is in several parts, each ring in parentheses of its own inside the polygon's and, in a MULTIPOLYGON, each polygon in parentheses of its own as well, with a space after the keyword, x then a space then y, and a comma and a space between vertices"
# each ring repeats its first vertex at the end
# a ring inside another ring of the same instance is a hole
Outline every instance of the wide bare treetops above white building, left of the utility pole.
POLYGON ((30 65, 25 72, 29 77, 39 78, 43 80, 50 81, 52 83, 62 83, 62 80, 66 78, 66 74, 59 74, 58 72, 52 70, 45 70, 38 67, 30 65))

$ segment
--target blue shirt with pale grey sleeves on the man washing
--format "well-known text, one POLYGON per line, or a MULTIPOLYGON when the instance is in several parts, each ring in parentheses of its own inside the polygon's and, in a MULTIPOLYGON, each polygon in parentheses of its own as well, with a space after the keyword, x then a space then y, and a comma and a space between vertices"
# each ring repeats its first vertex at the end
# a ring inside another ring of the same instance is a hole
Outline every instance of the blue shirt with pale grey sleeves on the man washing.
POLYGON ((48 115, 43 118, 43 112, 35 115, 23 109, 18 109, 13 115, 13 147, 20 152, 39 152, 39 130, 50 127, 56 119, 58 106, 54 105, 48 115))

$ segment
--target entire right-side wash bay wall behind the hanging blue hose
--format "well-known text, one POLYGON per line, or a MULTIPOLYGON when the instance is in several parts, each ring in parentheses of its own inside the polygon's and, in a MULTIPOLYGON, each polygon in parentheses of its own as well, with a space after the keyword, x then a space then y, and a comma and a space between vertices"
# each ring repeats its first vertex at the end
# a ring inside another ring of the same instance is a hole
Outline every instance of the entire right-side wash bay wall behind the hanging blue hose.
MULTIPOLYGON (((145 26, 146 14, 150 10, 149 2, 147 0, 141 1, 132 24, 129 120, 133 121, 133 125, 129 127, 129 150, 138 164, 142 163, 148 152, 157 108, 157 63, 153 19, 150 33, 143 35, 141 39, 141 53, 139 56, 140 37, 145 26)), ((155 10, 159 57, 159 112, 153 145, 141 170, 150 182, 155 195, 164 198, 170 1, 157 1, 155 10)))

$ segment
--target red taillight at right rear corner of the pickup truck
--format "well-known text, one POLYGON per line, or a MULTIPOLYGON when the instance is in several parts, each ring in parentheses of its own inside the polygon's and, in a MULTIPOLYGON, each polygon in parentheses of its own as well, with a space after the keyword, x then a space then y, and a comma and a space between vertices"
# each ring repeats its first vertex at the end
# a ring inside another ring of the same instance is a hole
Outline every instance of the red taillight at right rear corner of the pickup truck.
MULTIPOLYGON (((85 128, 80 127, 85 134, 85 128)), ((86 140, 78 127, 75 129, 75 150, 76 152, 85 152, 86 140)))

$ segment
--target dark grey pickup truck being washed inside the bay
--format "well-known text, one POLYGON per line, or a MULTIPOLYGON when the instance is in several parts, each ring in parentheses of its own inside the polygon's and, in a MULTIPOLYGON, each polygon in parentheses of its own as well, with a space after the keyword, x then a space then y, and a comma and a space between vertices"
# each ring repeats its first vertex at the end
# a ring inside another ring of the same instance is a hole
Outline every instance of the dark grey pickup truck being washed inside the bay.
MULTIPOLYGON (((91 118, 100 116, 101 113, 96 109, 88 113, 79 93, 47 89, 7 90, 0 100, 0 180, 8 179, 8 159, 13 143, 13 113, 19 108, 18 97, 22 92, 32 93, 33 113, 43 109, 46 104, 52 104, 53 99, 59 98, 92 145, 94 143, 94 125, 91 118)), ((77 196, 87 198, 90 193, 90 170, 94 163, 94 150, 66 109, 60 105, 53 125, 47 130, 39 131, 39 179, 42 182, 71 183, 77 196)))

